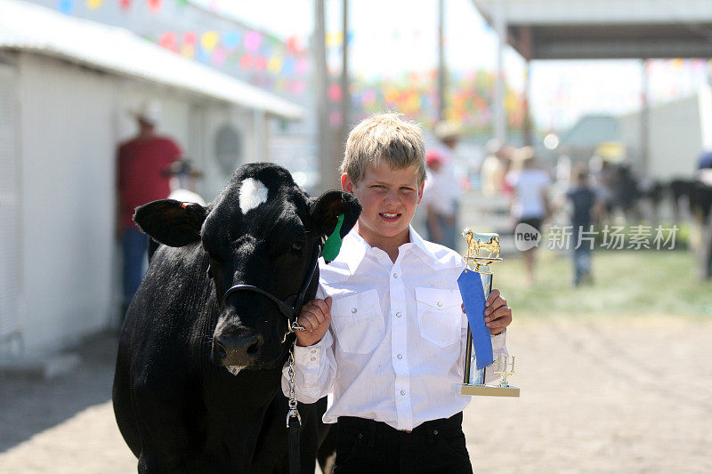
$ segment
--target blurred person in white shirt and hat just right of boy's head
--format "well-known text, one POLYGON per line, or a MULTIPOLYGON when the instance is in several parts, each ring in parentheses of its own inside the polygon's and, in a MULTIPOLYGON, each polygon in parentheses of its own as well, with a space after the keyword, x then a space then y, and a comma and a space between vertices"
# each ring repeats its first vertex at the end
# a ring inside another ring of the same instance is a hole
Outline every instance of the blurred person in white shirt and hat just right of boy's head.
POLYGON ((457 248, 459 236, 457 213, 461 190, 455 173, 455 154, 459 140, 459 127, 449 122, 441 122, 435 127, 435 137, 439 146, 425 153, 427 175, 423 201, 425 203, 425 228, 428 240, 457 248))

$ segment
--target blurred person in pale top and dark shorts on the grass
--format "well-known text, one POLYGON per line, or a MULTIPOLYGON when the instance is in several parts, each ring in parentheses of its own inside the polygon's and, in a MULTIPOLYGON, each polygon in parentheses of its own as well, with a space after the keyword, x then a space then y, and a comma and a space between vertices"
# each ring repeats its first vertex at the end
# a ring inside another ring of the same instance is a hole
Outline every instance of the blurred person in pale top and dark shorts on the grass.
MULTIPOLYGON (((542 223, 551 214, 548 197, 551 177, 538 165, 531 147, 517 150, 513 169, 507 173, 505 181, 512 189, 509 211, 515 226, 528 224, 541 233, 542 223)), ((534 284, 536 251, 536 246, 523 251, 527 285, 534 284)))

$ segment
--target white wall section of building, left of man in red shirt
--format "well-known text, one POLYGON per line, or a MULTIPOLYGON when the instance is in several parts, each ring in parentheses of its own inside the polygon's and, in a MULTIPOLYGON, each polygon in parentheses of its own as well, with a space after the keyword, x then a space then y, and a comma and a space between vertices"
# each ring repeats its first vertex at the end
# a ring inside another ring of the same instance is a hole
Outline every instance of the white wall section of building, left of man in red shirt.
POLYGON ((108 325, 118 79, 20 55, 25 347, 108 325))

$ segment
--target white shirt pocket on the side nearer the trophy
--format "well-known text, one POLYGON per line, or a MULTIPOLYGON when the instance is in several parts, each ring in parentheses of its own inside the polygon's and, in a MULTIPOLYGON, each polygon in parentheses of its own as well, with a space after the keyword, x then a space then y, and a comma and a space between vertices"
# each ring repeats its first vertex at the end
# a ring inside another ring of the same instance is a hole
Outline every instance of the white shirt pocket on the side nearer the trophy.
POLYGON ((416 301, 420 335, 443 348, 460 340, 463 314, 457 290, 416 287, 416 301))

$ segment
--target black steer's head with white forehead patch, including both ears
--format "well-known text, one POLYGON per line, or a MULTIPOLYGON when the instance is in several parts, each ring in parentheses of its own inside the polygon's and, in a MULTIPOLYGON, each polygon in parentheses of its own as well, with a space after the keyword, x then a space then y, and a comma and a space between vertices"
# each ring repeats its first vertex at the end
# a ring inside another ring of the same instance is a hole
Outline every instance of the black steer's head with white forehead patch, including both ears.
MULTIPOLYGON (((328 191, 310 198, 286 169, 249 164, 206 208, 165 199, 139 207, 134 220, 161 244, 202 244, 220 308, 211 359, 237 374, 281 365, 293 339, 283 343, 287 317, 269 297, 251 290, 223 296, 233 285, 253 285, 291 305, 342 213, 344 237, 360 214, 355 197, 328 191)), ((317 270, 305 301, 318 282, 317 270)))

